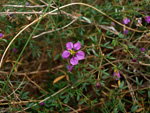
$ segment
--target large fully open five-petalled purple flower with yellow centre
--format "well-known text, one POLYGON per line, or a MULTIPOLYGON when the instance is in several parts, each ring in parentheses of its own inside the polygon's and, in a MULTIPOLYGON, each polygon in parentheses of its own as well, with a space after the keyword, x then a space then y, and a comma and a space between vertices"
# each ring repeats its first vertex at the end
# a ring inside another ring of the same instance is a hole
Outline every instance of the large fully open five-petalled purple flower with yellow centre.
POLYGON ((72 65, 77 65, 79 60, 83 60, 84 59, 85 54, 84 54, 83 51, 75 52, 76 50, 79 50, 81 48, 81 44, 79 42, 75 43, 74 45, 73 45, 72 42, 68 42, 66 44, 66 48, 67 48, 67 50, 65 50, 62 53, 62 57, 64 59, 68 59, 70 57, 70 55, 72 55, 72 58, 70 59, 70 63, 72 65))

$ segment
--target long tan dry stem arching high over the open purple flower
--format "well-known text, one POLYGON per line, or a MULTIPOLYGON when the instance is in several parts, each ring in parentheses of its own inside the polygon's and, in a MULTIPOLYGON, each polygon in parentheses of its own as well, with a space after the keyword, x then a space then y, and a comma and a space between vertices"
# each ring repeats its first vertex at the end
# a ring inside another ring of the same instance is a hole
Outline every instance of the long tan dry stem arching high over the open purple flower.
MULTIPOLYGON (((105 14, 104 12, 100 11, 99 9, 97 9, 97 8, 95 8, 95 7, 93 7, 93 6, 89 5, 89 4, 85 4, 85 3, 70 3, 70 4, 67 4, 67 5, 64 5, 64 6, 59 7, 59 9, 62 9, 62 8, 68 7, 68 6, 72 6, 72 5, 83 5, 83 6, 90 7, 90 8, 92 8, 92 9, 98 11, 99 13, 103 14, 104 16, 108 17, 108 18, 111 19, 112 21, 116 22, 117 24, 121 25, 122 27, 125 27, 125 28, 127 28, 127 29, 129 29, 129 30, 132 30, 132 31, 135 31, 135 32, 147 32, 147 30, 146 30, 146 31, 139 31, 139 30, 136 30, 136 29, 132 29, 132 28, 130 28, 130 27, 127 27, 127 26, 123 25, 122 23, 116 21, 115 19, 109 17, 109 16, 108 16, 107 14, 105 14)), ((44 18, 45 16, 47 16, 48 14, 51 14, 51 13, 53 13, 53 12, 59 10, 59 9, 56 8, 56 9, 54 9, 54 10, 52 10, 52 11, 46 13, 46 14, 43 16, 43 18, 44 18)), ((41 17, 42 17, 42 16, 41 16, 41 17)), ((28 27, 30 27, 31 25, 33 25, 33 24, 35 24, 36 22, 38 22, 38 21, 41 19, 41 17, 39 17, 38 19, 34 20, 32 23, 28 24, 25 28, 23 28, 23 29, 11 40, 11 42, 9 43, 9 45, 7 46, 7 48, 5 49, 5 51, 4 51, 3 55, 2 55, 2 58, 1 58, 1 61, 0 61, 0 68, 2 67, 2 62, 3 62, 4 56, 6 55, 6 52, 8 51, 8 49, 9 49, 10 45, 12 44, 12 42, 13 42, 24 30, 26 30, 28 27)))

